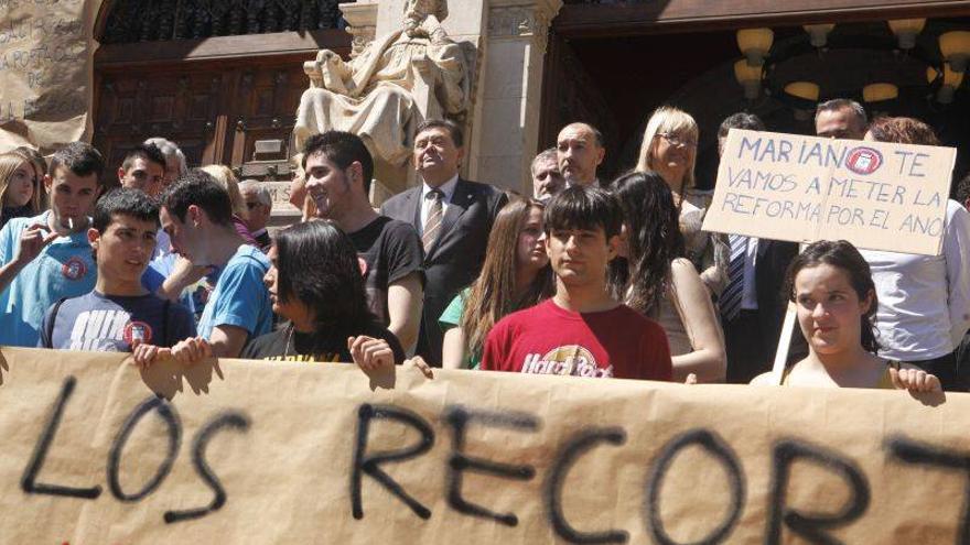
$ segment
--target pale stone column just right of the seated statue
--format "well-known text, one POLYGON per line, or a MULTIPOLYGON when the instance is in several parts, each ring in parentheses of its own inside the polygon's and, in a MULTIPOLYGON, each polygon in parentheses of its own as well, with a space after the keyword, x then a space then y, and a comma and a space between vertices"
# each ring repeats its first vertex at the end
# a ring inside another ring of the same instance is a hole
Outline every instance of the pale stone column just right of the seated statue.
POLYGON ((472 177, 531 195, 549 22, 562 0, 489 0, 472 177))

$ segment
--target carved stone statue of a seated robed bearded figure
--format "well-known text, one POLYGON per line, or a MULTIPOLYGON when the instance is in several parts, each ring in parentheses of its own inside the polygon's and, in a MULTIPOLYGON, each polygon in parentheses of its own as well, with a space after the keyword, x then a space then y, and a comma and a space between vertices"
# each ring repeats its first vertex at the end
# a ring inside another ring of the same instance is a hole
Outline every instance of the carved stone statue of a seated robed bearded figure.
POLYGON ((402 30, 349 62, 321 50, 305 63, 310 88, 297 111, 298 149, 313 134, 343 130, 359 135, 375 159, 400 166, 418 123, 465 111, 468 78, 461 47, 441 26, 445 17, 446 0, 407 0, 402 30))

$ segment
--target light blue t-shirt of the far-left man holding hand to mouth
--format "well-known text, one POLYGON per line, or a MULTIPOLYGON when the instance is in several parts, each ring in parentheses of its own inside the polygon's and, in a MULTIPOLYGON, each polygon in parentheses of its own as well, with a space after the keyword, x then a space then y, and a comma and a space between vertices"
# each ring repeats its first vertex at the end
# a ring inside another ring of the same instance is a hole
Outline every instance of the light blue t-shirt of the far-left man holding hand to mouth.
MULTIPOLYGON (((34 224, 46 226, 51 214, 13 218, 0 229, 0 265, 17 257, 23 230, 34 224)), ((97 275, 86 232, 58 237, 47 244, 0 294, 0 345, 37 346, 47 308, 62 298, 90 292, 97 275)))

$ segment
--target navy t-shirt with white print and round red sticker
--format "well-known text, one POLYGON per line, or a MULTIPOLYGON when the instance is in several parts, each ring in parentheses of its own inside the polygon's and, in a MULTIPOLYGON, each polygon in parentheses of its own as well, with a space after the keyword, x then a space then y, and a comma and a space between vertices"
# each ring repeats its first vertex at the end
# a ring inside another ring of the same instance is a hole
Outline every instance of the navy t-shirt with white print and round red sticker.
POLYGON ((177 303, 153 294, 120 296, 93 291, 51 306, 44 316, 37 346, 130 352, 136 339, 171 348, 188 337, 195 337, 195 319, 177 303))

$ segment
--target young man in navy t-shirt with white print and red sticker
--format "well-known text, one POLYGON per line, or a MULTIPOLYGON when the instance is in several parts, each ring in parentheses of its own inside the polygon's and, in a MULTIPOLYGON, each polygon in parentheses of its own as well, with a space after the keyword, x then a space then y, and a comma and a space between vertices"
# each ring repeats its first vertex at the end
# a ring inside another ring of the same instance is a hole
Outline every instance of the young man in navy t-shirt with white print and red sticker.
POLYGON ((41 348, 130 352, 137 346, 173 347, 195 336, 195 319, 177 303, 141 285, 155 249, 159 205, 140 189, 101 197, 87 230, 97 284, 80 297, 55 303, 41 328, 41 348))

